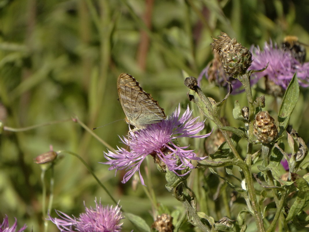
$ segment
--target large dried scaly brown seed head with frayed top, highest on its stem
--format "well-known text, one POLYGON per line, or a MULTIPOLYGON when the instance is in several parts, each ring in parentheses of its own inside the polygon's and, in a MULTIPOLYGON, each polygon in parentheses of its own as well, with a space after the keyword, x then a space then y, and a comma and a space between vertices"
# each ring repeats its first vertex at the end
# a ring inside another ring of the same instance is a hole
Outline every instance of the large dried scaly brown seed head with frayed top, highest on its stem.
POLYGON ((219 53, 224 71, 231 77, 245 73, 252 63, 251 52, 224 32, 221 32, 218 39, 213 39, 210 45, 219 53))

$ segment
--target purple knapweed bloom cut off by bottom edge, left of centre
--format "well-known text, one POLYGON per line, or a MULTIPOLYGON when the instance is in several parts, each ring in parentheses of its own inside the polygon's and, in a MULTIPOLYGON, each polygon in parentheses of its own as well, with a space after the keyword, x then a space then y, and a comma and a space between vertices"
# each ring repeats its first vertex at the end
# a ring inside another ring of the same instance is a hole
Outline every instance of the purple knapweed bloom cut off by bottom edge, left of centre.
POLYGON ((78 218, 70 217, 65 213, 56 210, 56 213, 60 218, 52 218, 51 220, 58 229, 62 231, 79 231, 79 232, 120 232, 122 222, 120 220, 122 216, 121 207, 116 205, 103 206, 101 201, 99 204, 95 200, 95 208, 87 208, 85 206, 85 213, 81 213, 78 218))

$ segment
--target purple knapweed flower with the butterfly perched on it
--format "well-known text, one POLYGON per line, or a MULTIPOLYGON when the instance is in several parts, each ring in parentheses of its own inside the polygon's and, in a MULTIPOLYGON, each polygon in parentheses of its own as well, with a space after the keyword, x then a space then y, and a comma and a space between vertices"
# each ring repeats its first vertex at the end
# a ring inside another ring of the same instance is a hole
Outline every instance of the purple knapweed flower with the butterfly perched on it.
POLYGON ((177 175, 187 174, 188 172, 179 174, 177 170, 184 170, 187 167, 191 170, 194 168, 191 160, 202 160, 205 157, 197 157, 193 150, 186 150, 188 146, 177 146, 175 140, 180 137, 205 138, 211 133, 195 135, 203 130, 204 122, 200 122, 199 117, 192 118, 192 111, 189 107, 181 117, 179 115, 180 105, 172 115, 163 121, 150 124, 139 131, 130 131, 128 138, 120 138, 121 142, 125 144, 125 148, 118 147, 115 152, 104 153, 108 161, 103 164, 111 165, 109 170, 116 169, 116 172, 117 170, 128 170, 122 183, 126 183, 138 171, 141 183, 145 185, 140 166, 149 154, 157 158, 157 163, 163 163, 165 168, 177 175), (130 151, 127 150, 128 147, 130 151))

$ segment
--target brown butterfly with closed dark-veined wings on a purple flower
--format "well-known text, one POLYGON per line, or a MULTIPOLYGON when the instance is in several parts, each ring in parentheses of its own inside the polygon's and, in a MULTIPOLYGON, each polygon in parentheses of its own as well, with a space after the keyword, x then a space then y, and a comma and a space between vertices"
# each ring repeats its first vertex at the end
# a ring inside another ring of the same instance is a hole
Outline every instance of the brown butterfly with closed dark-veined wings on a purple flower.
POLYGON ((133 76, 122 73, 117 80, 118 101, 126 116, 126 122, 139 130, 148 124, 161 122, 166 118, 164 109, 151 94, 146 93, 133 76))

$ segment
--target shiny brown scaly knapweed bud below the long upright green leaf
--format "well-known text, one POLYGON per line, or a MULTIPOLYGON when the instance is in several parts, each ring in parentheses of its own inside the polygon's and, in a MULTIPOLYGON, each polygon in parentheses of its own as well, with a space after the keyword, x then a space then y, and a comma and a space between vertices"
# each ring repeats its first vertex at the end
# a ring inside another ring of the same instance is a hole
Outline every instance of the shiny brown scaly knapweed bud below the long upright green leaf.
POLYGON ((269 144, 277 138, 277 125, 267 111, 257 113, 253 125, 253 132, 262 144, 269 144))

